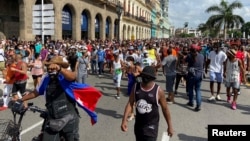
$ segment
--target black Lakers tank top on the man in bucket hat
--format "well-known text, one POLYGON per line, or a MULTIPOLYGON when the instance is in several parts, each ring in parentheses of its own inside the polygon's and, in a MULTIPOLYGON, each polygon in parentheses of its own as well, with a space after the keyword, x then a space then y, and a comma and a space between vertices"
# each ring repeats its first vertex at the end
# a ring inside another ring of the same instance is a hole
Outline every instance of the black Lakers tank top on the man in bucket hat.
POLYGON ((159 86, 154 84, 150 90, 143 90, 140 83, 135 87, 136 118, 134 132, 136 135, 157 137, 159 126, 159 86))

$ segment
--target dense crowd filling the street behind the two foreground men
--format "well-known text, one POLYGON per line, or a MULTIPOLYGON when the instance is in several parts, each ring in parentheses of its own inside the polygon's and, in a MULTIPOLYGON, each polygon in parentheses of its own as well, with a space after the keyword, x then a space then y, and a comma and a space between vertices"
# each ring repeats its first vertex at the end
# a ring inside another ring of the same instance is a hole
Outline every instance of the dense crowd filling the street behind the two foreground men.
MULTIPOLYGON (((46 62, 60 57, 69 65, 67 71, 75 72, 75 81, 86 84, 88 75, 102 78, 104 73, 112 74, 116 87, 116 99, 120 99, 122 78, 127 78, 127 95, 134 95, 138 83, 152 82, 162 70, 166 81, 166 103, 174 103, 180 83, 186 86, 188 106, 201 110, 201 83, 209 72, 211 97, 209 101, 221 100, 221 84, 225 82, 227 101, 237 109, 240 86, 246 82, 250 70, 250 40, 247 39, 148 39, 148 40, 47 40, 42 44, 36 41, 2 40, 0 44, 0 70, 5 84, 0 110, 8 107, 10 94, 21 98, 26 93, 30 71, 34 87, 39 86, 43 75, 48 71, 46 62), (148 66, 155 69, 155 76, 145 76, 148 66), (144 72, 144 73, 143 73, 144 72), (144 74, 144 75, 143 75, 144 74), (143 77, 141 77, 143 75, 143 77), (216 94, 214 83, 217 83, 216 94), (232 91, 230 90, 232 88, 232 91), (231 96, 233 100, 231 101, 231 96)), ((61 69, 57 67, 57 69, 61 69)), ((73 79, 73 78, 72 78, 73 79)), ((248 80, 249 81, 249 80, 248 80)), ((150 83, 150 87, 153 84, 150 83)), ((146 86, 145 86, 146 87, 146 86)), ((154 86, 155 89, 157 86, 154 86)), ((143 89, 143 88, 141 88, 143 89)), ((162 102, 162 97, 159 99, 162 102)), ((129 100, 122 130, 126 131, 125 120, 132 120, 136 99, 129 100)), ((161 103, 163 107, 166 107, 161 103)), ((137 107, 138 108, 138 107, 137 107)), ((136 110, 136 114, 141 114, 136 110)), ((170 122, 170 121, 168 121, 170 122)), ((170 124, 170 123, 168 123, 170 124)), ((171 127, 172 128, 172 127, 171 127)), ((169 130, 172 135, 172 129, 169 130)), ((139 138, 139 137, 138 137, 139 138)))

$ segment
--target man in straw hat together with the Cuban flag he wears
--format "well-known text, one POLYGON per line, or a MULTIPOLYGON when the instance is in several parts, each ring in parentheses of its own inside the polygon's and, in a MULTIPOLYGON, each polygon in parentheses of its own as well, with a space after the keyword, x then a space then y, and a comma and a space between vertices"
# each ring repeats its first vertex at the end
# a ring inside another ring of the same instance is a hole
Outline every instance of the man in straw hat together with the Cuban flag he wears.
POLYGON ((76 74, 68 70, 69 64, 60 56, 53 57, 47 66, 47 74, 34 91, 22 97, 22 101, 45 96, 48 111, 48 128, 43 131, 43 141, 60 141, 63 136, 67 141, 79 141, 79 113, 76 105, 91 117, 91 123, 97 122, 96 104, 101 93, 87 85, 76 83, 76 74), (58 125, 57 122, 62 122, 58 125))

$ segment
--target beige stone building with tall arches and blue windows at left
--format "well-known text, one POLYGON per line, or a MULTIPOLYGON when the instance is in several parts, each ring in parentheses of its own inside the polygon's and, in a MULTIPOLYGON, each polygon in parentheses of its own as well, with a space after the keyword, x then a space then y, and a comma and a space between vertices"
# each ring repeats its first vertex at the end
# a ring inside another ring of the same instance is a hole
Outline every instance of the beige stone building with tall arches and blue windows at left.
MULTIPOLYGON (((114 39, 117 37, 116 1, 106 0, 44 0, 54 7, 54 35, 52 39, 114 39)), ((122 2, 121 2, 122 3, 122 2)), ((34 40, 34 5, 41 0, 1 1, 0 31, 8 38, 34 40)), ((45 35, 48 36, 48 35, 45 35)))

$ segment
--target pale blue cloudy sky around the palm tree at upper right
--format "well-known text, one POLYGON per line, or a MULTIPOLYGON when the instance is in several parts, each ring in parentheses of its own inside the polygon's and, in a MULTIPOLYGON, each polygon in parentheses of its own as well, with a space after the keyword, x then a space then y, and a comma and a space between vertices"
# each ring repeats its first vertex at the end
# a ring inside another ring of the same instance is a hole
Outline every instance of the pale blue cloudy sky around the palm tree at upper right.
MULTIPOLYGON (((232 3, 235 0, 227 0, 232 3)), ((243 4, 241 9, 235 9, 234 14, 240 15, 245 22, 250 21, 250 0, 238 0, 243 4)), ((221 0, 169 0, 169 22, 175 28, 184 27, 188 22, 189 28, 197 28, 205 23, 213 13, 205 12, 212 5, 220 4, 221 0)))

